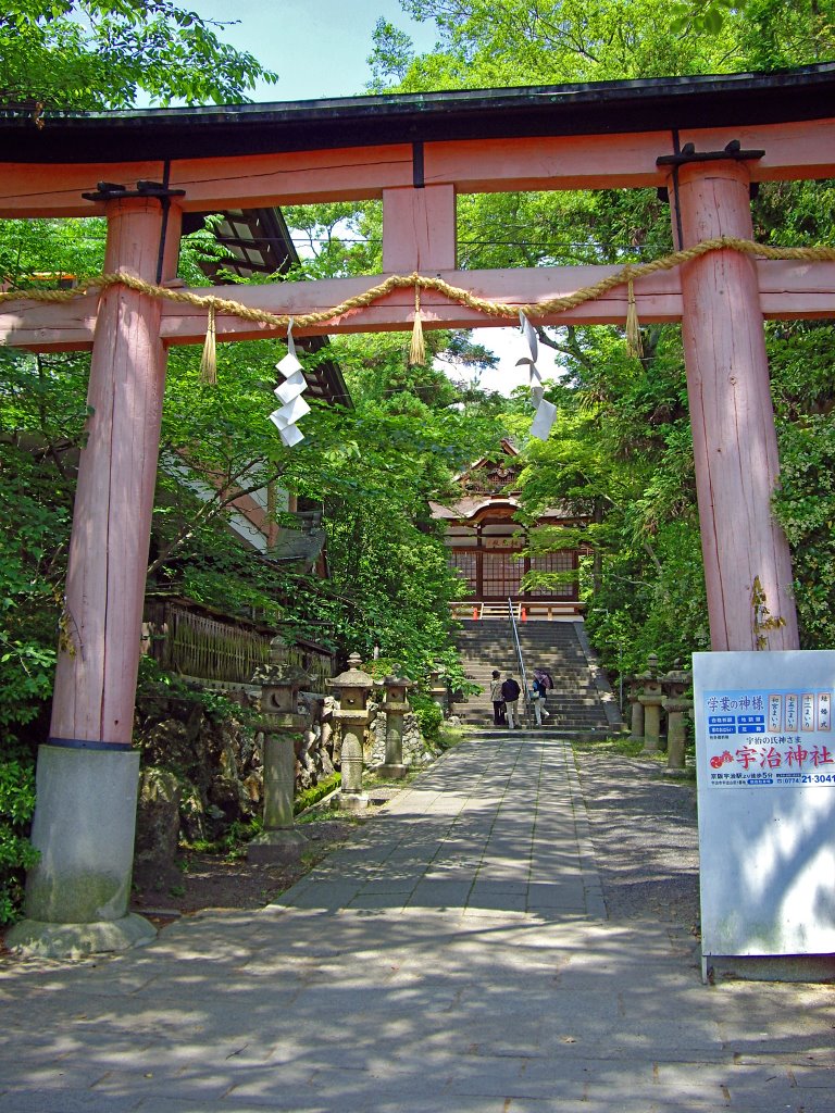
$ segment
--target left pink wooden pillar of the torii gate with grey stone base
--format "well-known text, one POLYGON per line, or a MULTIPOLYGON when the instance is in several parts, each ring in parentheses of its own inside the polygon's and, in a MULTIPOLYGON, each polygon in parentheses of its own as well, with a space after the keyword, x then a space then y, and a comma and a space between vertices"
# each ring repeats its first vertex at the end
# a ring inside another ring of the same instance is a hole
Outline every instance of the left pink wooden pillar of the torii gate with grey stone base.
MULTIPOLYGON (((169 277, 177 209, 130 197, 108 201, 107 218, 107 272, 169 277)), ((57 957, 156 934, 127 915, 127 904, 139 770, 134 700, 166 368, 160 306, 111 286, 96 321, 52 721, 38 755, 40 861, 27 879, 28 918, 8 939, 57 957)))

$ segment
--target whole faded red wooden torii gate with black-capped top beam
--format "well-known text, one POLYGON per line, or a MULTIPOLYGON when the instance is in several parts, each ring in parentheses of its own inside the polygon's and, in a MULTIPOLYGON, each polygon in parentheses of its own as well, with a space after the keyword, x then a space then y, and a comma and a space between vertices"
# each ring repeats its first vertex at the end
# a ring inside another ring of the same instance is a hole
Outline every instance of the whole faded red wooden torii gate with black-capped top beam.
MULTIPOLYGON (((0 216, 104 216, 105 269, 170 282, 181 215, 382 198, 385 274, 420 273, 525 305, 570 294, 612 267, 455 270, 462 193, 656 187, 674 242, 750 240, 758 181, 835 174, 835 67, 593 86, 440 92, 291 105, 0 119, 0 216)), ((250 308, 303 316, 382 276, 235 287, 250 308)), ((195 293, 228 294, 228 287, 195 293)), ((644 322, 681 322, 715 650, 756 649, 758 579, 769 649, 796 649, 786 540, 772 519, 778 472, 763 319, 835 316, 835 263, 711 252, 639 278, 644 322)), ((622 324, 625 286, 546 324, 622 324)), ((507 325, 424 292, 428 327, 507 325)), ((305 332, 411 328, 400 289, 305 332)), ((218 341, 277 335, 222 314, 218 341)), ((0 307, 2 343, 92 349, 48 745, 39 757, 28 922, 17 938, 56 953, 129 945, 125 915, 138 756, 130 739, 166 351, 202 342, 206 312, 124 285, 66 305, 0 307), (67 925, 76 925, 68 928, 67 925), (56 942, 57 940, 57 942, 56 942)), ((265 432, 265 435, 268 435, 265 432)))

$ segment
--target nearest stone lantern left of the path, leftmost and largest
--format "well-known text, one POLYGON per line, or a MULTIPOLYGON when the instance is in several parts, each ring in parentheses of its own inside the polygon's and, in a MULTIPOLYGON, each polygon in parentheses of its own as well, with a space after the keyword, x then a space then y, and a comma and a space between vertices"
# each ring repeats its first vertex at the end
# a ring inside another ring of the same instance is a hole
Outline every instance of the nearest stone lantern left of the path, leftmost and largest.
POLYGON ((296 786, 296 751, 307 729, 307 716, 298 713, 298 692, 311 683, 302 669, 282 660, 284 642, 274 638, 269 663, 258 669, 261 722, 264 731, 264 830, 247 850, 250 861, 277 861, 297 857, 307 841, 293 829, 296 786))

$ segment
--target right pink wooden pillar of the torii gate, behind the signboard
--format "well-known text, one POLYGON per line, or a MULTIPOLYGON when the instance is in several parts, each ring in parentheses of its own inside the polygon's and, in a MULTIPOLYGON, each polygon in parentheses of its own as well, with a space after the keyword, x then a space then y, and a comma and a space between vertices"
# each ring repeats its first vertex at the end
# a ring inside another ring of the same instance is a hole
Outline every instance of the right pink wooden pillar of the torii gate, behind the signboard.
MULTIPOLYGON (((669 197, 681 247, 754 238, 744 161, 680 165, 669 197)), ((755 263, 711 252, 682 266, 681 294, 710 647, 798 649, 788 542, 770 506, 779 465, 755 263), (775 622, 763 624, 763 607, 775 622)))

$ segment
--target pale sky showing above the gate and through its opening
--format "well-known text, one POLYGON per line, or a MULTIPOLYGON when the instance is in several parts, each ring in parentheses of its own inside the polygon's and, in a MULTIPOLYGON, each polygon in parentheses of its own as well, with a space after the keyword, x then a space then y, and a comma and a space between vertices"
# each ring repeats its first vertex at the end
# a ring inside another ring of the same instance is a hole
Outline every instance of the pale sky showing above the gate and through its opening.
MULTIPOLYGON (((250 93, 255 101, 315 100, 353 97, 365 92, 371 80, 367 57, 372 35, 381 17, 405 31, 419 52, 431 50, 438 38, 434 22, 416 23, 397 0, 189 0, 188 8, 204 19, 225 22, 218 37, 248 50, 267 69, 279 75, 277 85, 265 85, 250 93)), ((515 361, 527 355, 518 328, 484 328, 474 338, 492 348, 500 366, 484 372, 485 390, 510 391, 528 382, 527 368, 515 361)), ((540 348, 540 371, 558 374, 553 354, 540 348)))

